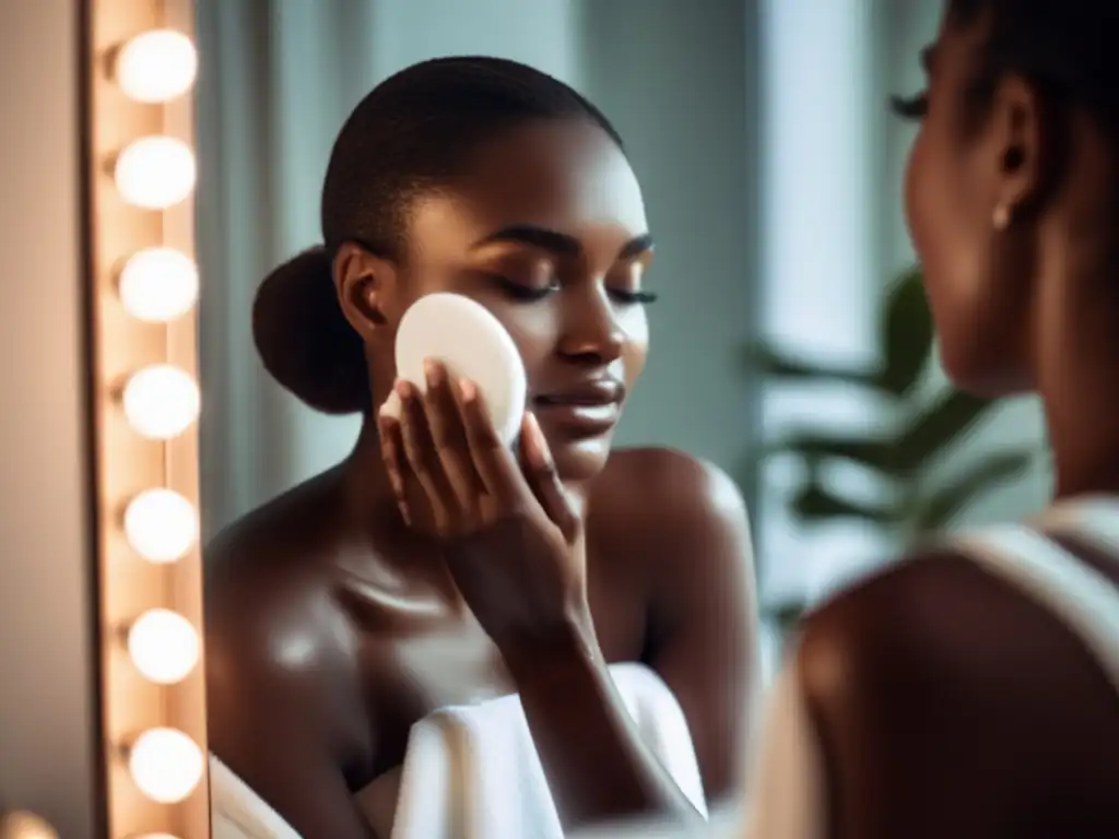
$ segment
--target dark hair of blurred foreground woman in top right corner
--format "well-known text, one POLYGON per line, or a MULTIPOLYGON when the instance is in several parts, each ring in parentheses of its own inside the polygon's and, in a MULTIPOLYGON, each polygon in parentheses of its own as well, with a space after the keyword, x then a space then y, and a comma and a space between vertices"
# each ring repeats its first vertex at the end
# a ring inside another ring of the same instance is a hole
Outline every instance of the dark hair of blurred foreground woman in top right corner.
POLYGON ((949 0, 948 23, 986 27, 969 92, 977 112, 986 111, 999 78, 1016 73, 1119 134, 1115 0, 949 0))

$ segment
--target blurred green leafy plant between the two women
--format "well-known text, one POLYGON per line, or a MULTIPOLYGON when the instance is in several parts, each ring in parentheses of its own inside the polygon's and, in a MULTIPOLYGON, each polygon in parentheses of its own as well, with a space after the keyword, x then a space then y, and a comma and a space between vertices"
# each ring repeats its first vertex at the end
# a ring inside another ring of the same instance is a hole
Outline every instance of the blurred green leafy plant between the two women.
MULTIPOLYGON (((984 493, 1023 471, 1033 451, 987 453, 947 480, 933 482, 931 470, 957 440, 995 405, 951 387, 929 396, 921 387, 933 351, 933 324, 921 274, 903 274, 885 295, 880 313, 880 362, 869 369, 819 366, 753 347, 750 360, 758 375, 786 381, 834 381, 864 388, 888 405, 896 426, 881 433, 845 434, 796 431, 767 443, 763 455, 791 454, 805 478, 791 499, 794 516, 806 524, 839 518, 888 528, 903 540, 941 530, 984 493), (885 506, 840 498, 824 486, 822 468, 835 461, 859 464, 896 488, 885 506)), ((794 621, 797 604, 778 610, 779 620, 794 621)))

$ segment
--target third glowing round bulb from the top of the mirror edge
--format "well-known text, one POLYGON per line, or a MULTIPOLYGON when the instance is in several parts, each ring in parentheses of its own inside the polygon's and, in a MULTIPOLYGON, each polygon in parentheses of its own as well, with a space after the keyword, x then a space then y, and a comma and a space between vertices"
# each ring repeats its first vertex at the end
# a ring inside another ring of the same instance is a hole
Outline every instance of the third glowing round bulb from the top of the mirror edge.
POLYGON ((121 268, 117 292, 133 318, 167 323, 198 302, 198 266, 172 247, 138 251, 121 268))

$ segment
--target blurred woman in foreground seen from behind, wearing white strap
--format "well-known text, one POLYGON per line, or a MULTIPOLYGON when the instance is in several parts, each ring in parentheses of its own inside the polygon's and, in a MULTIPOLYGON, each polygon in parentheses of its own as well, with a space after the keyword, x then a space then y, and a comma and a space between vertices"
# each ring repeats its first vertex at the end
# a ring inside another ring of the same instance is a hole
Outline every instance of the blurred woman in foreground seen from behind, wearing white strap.
POLYGON ((767 839, 1119 836, 1119 6, 951 0, 906 213, 951 378, 1036 392, 1029 526, 812 614, 752 785, 767 839))

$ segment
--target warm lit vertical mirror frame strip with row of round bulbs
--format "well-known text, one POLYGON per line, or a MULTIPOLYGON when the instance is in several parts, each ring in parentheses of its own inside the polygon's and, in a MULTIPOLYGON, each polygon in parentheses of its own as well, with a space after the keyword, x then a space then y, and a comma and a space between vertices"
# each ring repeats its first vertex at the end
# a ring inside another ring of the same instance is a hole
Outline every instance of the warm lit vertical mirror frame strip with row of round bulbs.
POLYGON ((85 44, 104 835, 112 839, 209 836, 194 17, 191 0, 97 0, 85 44))

